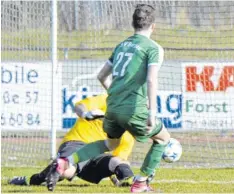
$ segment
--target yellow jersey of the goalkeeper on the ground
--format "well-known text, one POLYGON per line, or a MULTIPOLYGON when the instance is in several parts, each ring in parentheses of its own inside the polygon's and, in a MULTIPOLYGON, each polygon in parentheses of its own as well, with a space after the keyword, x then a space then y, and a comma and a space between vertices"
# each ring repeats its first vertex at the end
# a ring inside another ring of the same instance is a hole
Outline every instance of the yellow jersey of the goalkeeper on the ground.
MULTIPOLYGON (((106 94, 89 97, 76 103, 76 106, 83 104, 88 111, 100 109, 106 112, 106 94)), ((91 143, 97 140, 104 140, 107 138, 106 133, 102 128, 102 119, 95 119, 87 121, 86 119, 79 118, 76 120, 74 126, 64 136, 62 143, 67 141, 82 141, 84 143, 91 143)), ((132 152, 134 145, 134 138, 129 132, 125 132, 121 138, 119 146, 112 152, 114 156, 118 156, 127 160, 132 152)))

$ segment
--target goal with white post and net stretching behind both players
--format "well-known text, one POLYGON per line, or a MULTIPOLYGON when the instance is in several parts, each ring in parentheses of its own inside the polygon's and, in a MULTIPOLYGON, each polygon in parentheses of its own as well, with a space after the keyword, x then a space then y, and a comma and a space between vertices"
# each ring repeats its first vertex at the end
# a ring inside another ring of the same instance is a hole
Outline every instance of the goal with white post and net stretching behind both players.
MULTIPOLYGON (((162 166, 233 167, 234 2, 53 2, 1 1, 3 166, 56 155, 76 120, 74 103, 104 91, 96 74, 133 33, 136 4, 148 3, 157 14, 152 39, 165 50, 157 115, 183 146, 180 161, 162 166)), ((132 164, 149 146, 136 143, 132 164)))

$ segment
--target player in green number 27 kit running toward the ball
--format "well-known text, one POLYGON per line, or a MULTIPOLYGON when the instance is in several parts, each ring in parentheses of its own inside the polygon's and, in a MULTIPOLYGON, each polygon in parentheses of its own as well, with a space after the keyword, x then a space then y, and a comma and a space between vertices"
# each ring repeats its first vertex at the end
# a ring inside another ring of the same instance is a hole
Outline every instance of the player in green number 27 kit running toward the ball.
POLYGON ((57 177, 66 172, 68 165, 113 150, 126 129, 139 142, 153 140, 131 192, 152 190, 149 180, 159 167, 170 139, 170 134, 156 118, 157 76, 164 53, 162 47, 150 39, 155 29, 154 21, 153 7, 137 5, 132 21, 134 35, 116 46, 98 74, 98 79, 108 91, 103 127, 109 139, 88 144, 71 156, 56 160, 47 177, 49 190, 54 189, 57 177), (110 74, 111 82, 108 79, 110 74))

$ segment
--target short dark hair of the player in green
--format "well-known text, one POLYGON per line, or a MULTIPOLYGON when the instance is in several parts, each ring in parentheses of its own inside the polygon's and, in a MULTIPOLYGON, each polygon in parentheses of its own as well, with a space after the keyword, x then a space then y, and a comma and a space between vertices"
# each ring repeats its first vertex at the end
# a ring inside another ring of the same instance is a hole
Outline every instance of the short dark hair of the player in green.
POLYGON ((136 31, 146 30, 155 22, 155 9, 151 5, 138 4, 132 16, 132 26, 136 31))

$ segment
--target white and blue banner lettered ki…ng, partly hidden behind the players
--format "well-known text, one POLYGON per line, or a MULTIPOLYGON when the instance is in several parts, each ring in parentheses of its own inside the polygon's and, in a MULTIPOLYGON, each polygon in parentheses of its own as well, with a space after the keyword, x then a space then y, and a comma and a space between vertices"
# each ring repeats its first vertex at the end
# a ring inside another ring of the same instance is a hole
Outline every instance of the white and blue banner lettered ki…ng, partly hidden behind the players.
MULTIPOLYGON (((78 91, 69 92, 63 88, 63 128, 69 129, 76 122, 77 116, 73 112, 75 103, 88 96, 97 95, 89 87, 82 86, 78 91)), ((165 127, 176 129, 182 127, 182 95, 179 92, 159 91, 157 96, 157 112, 165 127)))

